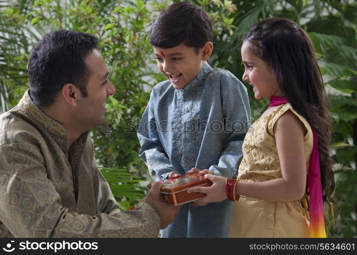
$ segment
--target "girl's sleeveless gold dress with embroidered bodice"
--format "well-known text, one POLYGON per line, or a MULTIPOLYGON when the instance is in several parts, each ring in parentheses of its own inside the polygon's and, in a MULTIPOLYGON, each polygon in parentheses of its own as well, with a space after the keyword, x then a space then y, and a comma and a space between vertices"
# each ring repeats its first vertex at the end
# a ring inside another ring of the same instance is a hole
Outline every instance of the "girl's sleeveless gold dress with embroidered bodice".
MULTIPOLYGON (((273 127, 288 110, 301 120, 307 130, 304 153, 308 164, 313 145, 311 127, 290 104, 285 104, 251 125, 242 146, 238 181, 264 182, 282 177, 273 127)), ((301 201, 265 201, 241 196, 234 204, 228 237, 308 237, 309 225, 301 201)))

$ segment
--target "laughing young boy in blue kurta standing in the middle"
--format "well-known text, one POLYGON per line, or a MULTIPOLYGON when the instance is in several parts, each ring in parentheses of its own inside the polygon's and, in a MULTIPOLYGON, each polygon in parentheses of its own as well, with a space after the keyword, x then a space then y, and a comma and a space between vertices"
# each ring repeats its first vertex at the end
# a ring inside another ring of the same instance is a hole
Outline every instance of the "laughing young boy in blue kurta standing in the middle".
MULTIPOLYGON (((139 155, 154 180, 186 172, 232 177, 250 119, 246 88, 206 62, 213 49, 208 14, 188 2, 162 11, 149 42, 168 79, 151 91, 139 125, 139 155)), ((233 202, 182 206, 162 237, 227 237, 233 202)))

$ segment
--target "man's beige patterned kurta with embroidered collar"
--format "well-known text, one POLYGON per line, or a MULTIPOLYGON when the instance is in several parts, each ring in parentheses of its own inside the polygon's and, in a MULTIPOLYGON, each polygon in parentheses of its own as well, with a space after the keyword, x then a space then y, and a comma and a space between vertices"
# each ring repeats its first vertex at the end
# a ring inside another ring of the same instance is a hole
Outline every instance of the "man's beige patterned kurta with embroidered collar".
POLYGON ((66 147, 64 126, 28 92, 0 115, 0 237, 158 237, 147 203, 119 211, 88 132, 66 147))

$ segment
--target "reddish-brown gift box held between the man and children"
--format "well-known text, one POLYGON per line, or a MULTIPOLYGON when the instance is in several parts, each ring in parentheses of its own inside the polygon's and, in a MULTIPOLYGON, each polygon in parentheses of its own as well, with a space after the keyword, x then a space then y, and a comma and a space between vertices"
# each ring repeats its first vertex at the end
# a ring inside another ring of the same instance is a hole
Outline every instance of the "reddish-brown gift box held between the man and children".
MULTIPOLYGON (((183 174, 175 178, 169 178, 163 181, 164 185, 161 187, 160 195, 165 203, 178 206, 183 203, 195 201, 203 196, 205 193, 187 193, 191 187, 209 187, 212 182, 206 179, 205 176, 199 173, 183 174)), ((149 184, 148 187, 151 187, 149 184)))

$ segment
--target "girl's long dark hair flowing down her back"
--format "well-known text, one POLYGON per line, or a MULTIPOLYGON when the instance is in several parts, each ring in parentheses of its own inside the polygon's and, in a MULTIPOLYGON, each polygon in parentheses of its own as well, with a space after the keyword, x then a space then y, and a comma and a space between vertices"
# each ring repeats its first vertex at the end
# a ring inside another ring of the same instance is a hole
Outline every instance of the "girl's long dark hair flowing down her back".
POLYGON ((252 53, 273 68, 278 86, 292 108, 315 129, 323 200, 333 201, 335 179, 329 156, 331 117, 313 43, 297 24, 284 18, 257 22, 244 41, 252 43, 252 53))

